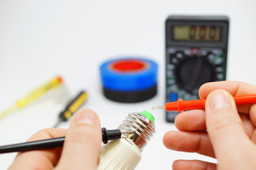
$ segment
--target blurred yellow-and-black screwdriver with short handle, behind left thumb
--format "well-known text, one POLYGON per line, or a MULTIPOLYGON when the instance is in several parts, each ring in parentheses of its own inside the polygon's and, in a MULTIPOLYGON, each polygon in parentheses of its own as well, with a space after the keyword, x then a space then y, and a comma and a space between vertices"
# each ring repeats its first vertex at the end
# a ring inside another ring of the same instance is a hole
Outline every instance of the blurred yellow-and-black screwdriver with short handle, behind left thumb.
POLYGON ((67 121, 87 100, 88 94, 86 91, 81 91, 72 101, 70 101, 65 109, 60 113, 59 120, 53 126, 57 128, 60 123, 67 121))

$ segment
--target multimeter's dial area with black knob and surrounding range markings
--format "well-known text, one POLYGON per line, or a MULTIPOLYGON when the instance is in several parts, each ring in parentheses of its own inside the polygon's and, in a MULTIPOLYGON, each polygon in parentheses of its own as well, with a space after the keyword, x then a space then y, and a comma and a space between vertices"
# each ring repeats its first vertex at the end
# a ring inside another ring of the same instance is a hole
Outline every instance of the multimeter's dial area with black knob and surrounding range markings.
POLYGON ((171 47, 167 50, 167 93, 191 100, 198 98, 199 87, 225 78, 221 49, 171 47))

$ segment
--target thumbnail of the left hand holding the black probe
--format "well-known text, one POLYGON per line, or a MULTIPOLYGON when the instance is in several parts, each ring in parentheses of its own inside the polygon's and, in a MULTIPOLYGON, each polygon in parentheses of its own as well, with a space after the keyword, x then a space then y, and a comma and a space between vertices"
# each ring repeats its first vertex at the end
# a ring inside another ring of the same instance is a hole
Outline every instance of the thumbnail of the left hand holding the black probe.
POLYGON ((96 125, 96 115, 93 113, 79 113, 78 115, 76 115, 76 123, 96 125))

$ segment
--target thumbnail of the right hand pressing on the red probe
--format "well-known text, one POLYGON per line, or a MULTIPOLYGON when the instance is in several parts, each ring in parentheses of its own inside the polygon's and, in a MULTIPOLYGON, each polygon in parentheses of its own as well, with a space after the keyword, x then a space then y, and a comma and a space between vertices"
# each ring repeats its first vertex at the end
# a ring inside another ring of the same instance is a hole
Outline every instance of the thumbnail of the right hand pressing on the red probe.
POLYGON ((211 110, 230 107, 230 96, 226 91, 216 90, 209 96, 209 105, 211 110))

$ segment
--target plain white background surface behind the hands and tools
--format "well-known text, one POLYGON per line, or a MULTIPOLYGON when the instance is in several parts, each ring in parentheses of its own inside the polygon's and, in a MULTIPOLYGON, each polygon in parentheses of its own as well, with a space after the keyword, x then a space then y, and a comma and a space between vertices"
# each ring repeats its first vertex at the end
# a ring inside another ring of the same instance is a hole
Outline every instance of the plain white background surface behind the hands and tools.
MULTIPOLYGON (((63 77, 65 88, 2 118, 0 145, 24 142, 38 130, 52 127, 67 96, 84 89, 89 92, 84 107, 99 114, 102 127, 117 128, 133 111, 155 115, 156 133, 137 169, 172 169, 175 159, 215 162, 199 154, 168 150, 162 144, 165 132, 175 128, 165 122, 164 111, 150 108, 165 101, 165 19, 170 14, 229 16, 228 80, 256 84, 255 8, 255 0, 1 0, 0 112, 57 75, 63 77), (121 55, 143 55, 157 62, 157 96, 135 104, 104 98, 99 65, 121 55)), ((68 125, 62 123, 60 128, 68 125)), ((15 155, 1 154, 0 169, 7 169, 15 155)))

